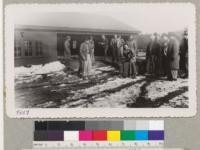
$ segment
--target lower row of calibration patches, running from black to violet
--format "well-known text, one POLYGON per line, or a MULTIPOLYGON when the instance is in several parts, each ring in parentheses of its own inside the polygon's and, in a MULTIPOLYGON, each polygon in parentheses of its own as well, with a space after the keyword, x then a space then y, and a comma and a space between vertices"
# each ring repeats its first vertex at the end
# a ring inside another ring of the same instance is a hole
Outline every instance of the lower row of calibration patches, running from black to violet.
POLYGON ((134 141, 164 140, 164 131, 148 130, 84 130, 35 131, 34 141, 134 141))

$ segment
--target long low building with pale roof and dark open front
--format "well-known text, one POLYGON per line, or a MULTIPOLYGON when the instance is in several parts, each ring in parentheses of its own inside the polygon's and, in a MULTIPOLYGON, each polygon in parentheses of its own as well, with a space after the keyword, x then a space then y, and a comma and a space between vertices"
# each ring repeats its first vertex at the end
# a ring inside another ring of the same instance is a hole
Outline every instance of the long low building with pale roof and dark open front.
POLYGON ((87 13, 25 14, 15 20, 15 66, 43 64, 63 57, 64 41, 71 36, 71 53, 77 55, 85 36, 93 36, 95 55, 102 56, 101 35, 127 39, 139 31, 114 18, 87 13))

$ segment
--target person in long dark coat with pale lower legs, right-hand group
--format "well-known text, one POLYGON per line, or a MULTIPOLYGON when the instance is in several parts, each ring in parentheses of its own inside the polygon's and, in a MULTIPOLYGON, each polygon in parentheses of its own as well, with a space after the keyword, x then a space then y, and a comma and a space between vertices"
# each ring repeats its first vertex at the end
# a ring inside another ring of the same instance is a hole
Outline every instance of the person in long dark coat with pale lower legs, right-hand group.
POLYGON ((167 59, 169 67, 168 79, 176 81, 179 70, 179 43, 173 35, 170 37, 167 59))

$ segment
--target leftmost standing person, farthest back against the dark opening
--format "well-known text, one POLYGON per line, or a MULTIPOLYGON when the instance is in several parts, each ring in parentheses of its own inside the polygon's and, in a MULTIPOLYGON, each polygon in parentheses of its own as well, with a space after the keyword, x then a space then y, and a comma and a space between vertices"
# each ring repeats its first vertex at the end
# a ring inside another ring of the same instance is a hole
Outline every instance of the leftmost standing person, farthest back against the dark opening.
POLYGON ((71 37, 67 36, 64 42, 64 47, 65 47, 64 58, 65 58, 66 66, 70 66, 70 59, 71 59, 70 41, 71 41, 71 37))

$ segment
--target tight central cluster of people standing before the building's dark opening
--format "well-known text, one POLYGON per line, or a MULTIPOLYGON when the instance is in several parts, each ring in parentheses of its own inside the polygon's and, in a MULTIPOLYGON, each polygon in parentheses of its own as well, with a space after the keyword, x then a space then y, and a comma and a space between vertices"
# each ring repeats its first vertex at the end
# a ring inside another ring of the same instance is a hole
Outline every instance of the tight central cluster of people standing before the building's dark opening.
POLYGON ((120 77, 135 78, 137 43, 135 37, 130 35, 124 40, 120 35, 114 35, 110 42, 112 62, 117 65, 120 77))

